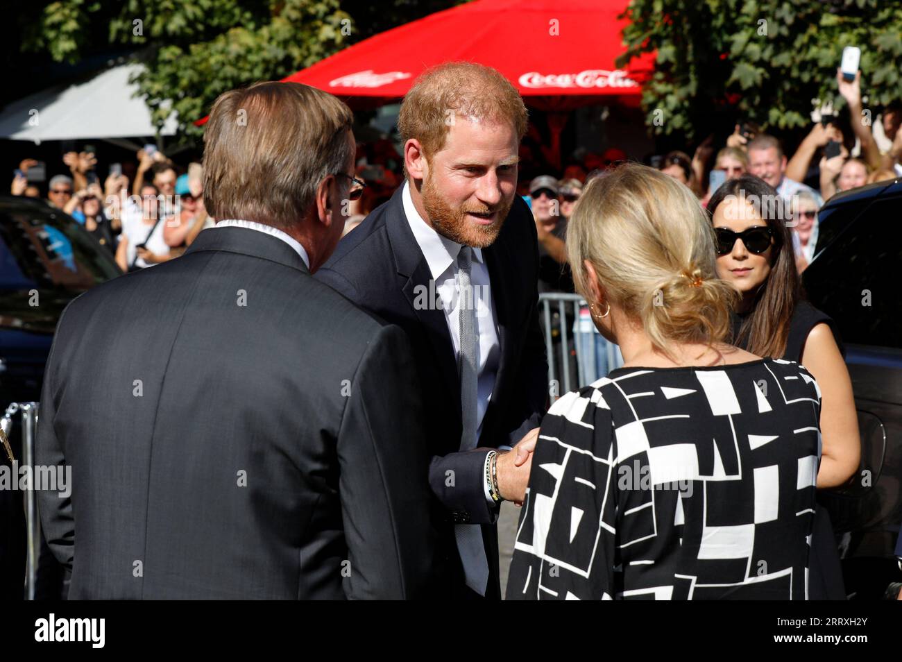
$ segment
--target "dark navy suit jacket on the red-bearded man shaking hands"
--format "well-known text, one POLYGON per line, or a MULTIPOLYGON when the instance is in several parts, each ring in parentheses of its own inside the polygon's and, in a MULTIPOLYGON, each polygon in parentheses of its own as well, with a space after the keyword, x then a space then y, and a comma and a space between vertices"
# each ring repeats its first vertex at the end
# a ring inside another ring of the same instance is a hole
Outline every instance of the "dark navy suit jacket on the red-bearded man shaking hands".
POLYGON ((500 597, 494 526, 498 509, 485 498, 483 464, 486 448, 516 444, 538 426, 548 404, 548 364, 538 324, 536 226, 529 207, 517 197, 501 234, 483 249, 501 360, 483 418, 480 448, 461 453, 460 383, 454 345, 444 310, 422 305, 421 293, 430 291, 431 274, 405 216, 402 190, 347 234, 315 277, 361 308, 400 326, 410 337, 423 385, 420 397, 428 426, 423 444, 431 456, 429 483, 437 497, 433 519, 440 532, 437 562, 444 564, 440 572, 446 577, 447 590, 461 591, 465 584, 454 524, 483 525, 490 569, 486 597, 500 597))

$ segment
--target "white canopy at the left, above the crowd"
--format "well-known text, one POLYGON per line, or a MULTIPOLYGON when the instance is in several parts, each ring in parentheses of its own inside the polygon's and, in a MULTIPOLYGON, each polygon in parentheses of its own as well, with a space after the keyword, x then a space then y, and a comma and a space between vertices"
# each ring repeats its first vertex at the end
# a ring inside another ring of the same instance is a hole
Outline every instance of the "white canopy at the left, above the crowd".
MULTIPOLYGON (((138 86, 128 82, 141 69, 140 64, 120 65, 76 85, 51 87, 14 101, 0 114, 0 138, 40 143, 155 135, 151 111, 143 97, 133 96, 138 86)), ((173 135, 176 125, 173 112, 161 135, 173 135)))

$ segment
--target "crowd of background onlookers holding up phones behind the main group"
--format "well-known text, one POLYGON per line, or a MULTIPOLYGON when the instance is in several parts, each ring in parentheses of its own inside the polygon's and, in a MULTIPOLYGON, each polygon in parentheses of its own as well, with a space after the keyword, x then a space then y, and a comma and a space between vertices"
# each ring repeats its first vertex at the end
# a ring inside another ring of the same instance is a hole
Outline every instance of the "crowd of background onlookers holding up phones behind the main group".
MULTIPOLYGON (((791 157, 777 137, 762 133, 756 124, 742 122, 725 137, 716 155, 711 135, 691 157, 674 151, 649 154, 643 161, 685 184, 703 206, 726 179, 749 173, 766 181, 787 203, 786 220, 791 227, 796 266, 799 272, 804 271, 814 256, 817 211, 824 200, 838 192, 902 175, 902 104, 884 108, 871 126, 862 119, 870 115, 861 106, 861 72, 853 81, 838 72, 837 84, 846 101, 847 115, 822 115, 791 157)), ((549 115, 549 123, 555 117, 549 115)), ((559 128, 551 135, 559 138, 559 128)), ((559 149, 559 140, 554 145, 544 144, 535 125, 529 124, 520 144, 520 173, 539 174, 531 179, 521 177, 518 193, 536 218, 542 260, 539 290, 573 292, 563 242, 567 219, 584 185, 627 161, 628 156, 616 147, 601 153, 580 147, 574 153, 578 158, 561 165, 559 149), (558 164, 557 174, 553 174, 549 162, 558 164), (547 171, 542 173, 542 169, 547 171)), ((95 234, 123 271, 178 256, 200 230, 213 225, 204 208, 203 171, 198 163, 181 168, 162 152, 141 150, 136 161, 115 164, 101 186, 93 153, 68 152, 63 162, 70 175, 51 178, 47 202, 95 234)), ((401 156, 388 138, 358 143, 355 162, 356 177, 366 186, 359 198, 350 201, 345 234, 391 198, 403 179, 401 156)), ((19 164, 11 186, 13 195, 41 197, 41 188, 28 179, 29 168, 36 164, 32 159, 19 164)), ((603 340, 599 342, 603 345, 603 340)), ((603 374, 608 367, 615 366, 600 363, 597 373, 603 374)))

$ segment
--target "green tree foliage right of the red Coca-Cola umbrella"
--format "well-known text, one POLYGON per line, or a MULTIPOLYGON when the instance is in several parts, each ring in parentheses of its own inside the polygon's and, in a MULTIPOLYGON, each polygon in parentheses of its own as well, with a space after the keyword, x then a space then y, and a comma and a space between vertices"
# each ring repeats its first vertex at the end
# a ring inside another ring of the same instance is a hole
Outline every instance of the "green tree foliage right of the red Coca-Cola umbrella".
POLYGON ((693 140, 718 113, 792 130, 810 123, 812 99, 842 101, 836 69, 845 46, 861 48, 869 106, 902 99, 902 4, 882 0, 631 0, 623 66, 658 51, 643 90, 649 130, 693 140), (679 103, 674 104, 674 99, 679 103))

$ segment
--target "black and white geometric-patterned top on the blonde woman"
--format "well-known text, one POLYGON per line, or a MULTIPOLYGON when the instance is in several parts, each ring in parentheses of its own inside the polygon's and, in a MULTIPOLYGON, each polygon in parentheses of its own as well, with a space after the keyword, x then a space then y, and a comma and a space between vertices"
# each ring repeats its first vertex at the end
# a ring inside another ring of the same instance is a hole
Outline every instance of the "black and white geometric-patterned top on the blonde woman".
POLYGON ((621 368, 542 423, 508 600, 807 598, 821 395, 798 363, 621 368))

